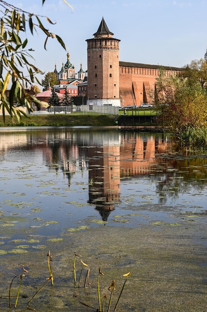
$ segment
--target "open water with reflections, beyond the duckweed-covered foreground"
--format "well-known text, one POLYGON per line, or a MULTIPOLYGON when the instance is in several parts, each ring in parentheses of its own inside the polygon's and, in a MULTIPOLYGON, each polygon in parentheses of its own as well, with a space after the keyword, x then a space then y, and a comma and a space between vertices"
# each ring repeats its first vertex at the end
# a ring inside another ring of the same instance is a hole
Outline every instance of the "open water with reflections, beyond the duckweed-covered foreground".
POLYGON ((1 129, 0 164, 0 249, 8 252, 15 240, 44 244, 106 222, 138 227, 206 213, 207 155, 179 151, 160 133, 1 129))

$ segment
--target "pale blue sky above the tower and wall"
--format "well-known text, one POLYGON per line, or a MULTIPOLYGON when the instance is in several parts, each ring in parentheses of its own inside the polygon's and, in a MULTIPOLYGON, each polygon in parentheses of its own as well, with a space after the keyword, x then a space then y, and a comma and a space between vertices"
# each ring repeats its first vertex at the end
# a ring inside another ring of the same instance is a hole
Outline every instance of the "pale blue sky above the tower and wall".
MULTIPOLYGON (((114 38, 120 39, 120 61, 183 67, 204 58, 207 51, 207 0, 7 0, 25 11, 39 14, 44 26, 59 35, 69 50, 76 72, 87 69, 87 42, 102 17, 114 38), (56 22, 52 25, 45 16, 56 22)), ((60 71, 67 51, 56 39, 38 31, 29 39, 35 64, 45 74, 60 71)), ((44 79, 44 75, 38 77, 44 79)))

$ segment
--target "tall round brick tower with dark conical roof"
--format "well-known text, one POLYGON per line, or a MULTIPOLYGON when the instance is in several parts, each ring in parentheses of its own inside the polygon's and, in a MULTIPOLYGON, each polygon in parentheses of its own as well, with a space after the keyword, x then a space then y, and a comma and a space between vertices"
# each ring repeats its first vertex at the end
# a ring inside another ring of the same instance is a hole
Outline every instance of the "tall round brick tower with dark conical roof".
POLYGON ((121 106, 119 96, 119 39, 102 18, 94 38, 87 39, 87 105, 121 106))

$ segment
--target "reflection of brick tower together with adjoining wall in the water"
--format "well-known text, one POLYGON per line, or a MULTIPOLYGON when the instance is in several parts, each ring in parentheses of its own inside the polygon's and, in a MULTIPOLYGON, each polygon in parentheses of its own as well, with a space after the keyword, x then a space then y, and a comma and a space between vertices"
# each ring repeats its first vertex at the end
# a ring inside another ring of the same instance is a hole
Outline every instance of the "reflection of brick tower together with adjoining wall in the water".
MULTIPOLYGON (((103 221, 120 202, 120 179, 150 173, 155 159, 154 136, 143 139, 136 133, 125 133, 113 140, 106 138, 103 146, 88 150, 89 202, 96 206, 103 221)), ((93 145, 97 142, 93 141, 93 145)))

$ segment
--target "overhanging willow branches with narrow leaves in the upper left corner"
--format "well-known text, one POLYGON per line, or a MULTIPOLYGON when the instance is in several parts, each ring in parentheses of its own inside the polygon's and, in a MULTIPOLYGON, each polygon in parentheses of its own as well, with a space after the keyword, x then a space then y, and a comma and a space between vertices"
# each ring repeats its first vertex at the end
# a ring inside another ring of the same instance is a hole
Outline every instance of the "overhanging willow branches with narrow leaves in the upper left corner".
MULTIPOLYGON (((45 1, 42 0, 42 4, 45 1)), ((67 3, 66 0, 63 1, 67 3)), ((18 120, 20 119, 21 113, 14 103, 26 105, 29 112, 32 111, 32 102, 37 106, 44 104, 25 91, 25 88, 28 89, 34 82, 40 84, 36 74, 41 73, 41 70, 33 64, 34 59, 30 54, 32 49, 28 47, 28 39, 25 38, 26 28, 32 34, 38 30, 44 32, 45 49, 48 38, 56 38, 66 49, 63 40, 43 26, 42 17, 44 16, 26 12, 0 0, 0 108, 3 118, 7 111, 11 117, 15 116, 18 120), (23 73, 24 70, 26 74, 23 73), (5 91, 10 83, 9 97, 6 98, 5 91)), ((49 23, 53 24, 47 16, 45 17, 49 23)))

